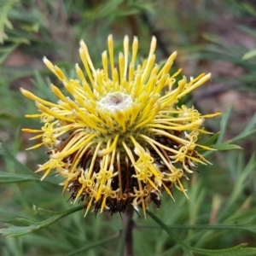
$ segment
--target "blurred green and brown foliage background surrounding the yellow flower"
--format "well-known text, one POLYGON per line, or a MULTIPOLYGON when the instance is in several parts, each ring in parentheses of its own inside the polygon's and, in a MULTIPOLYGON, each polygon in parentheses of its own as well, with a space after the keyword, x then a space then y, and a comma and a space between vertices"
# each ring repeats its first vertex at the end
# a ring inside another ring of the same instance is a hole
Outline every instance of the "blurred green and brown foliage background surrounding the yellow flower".
MULTIPOLYGON (((233 141, 243 148, 207 155, 212 166, 200 166, 185 184, 189 200, 174 190, 176 202, 163 195, 155 214, 193 247, 217 249, 242 242, 256 247, 256 2, 249 0, 1 0, 0 137, 7 148, 0 156, 0 228, 4 223, 20 225, 16 218, 43 220, 33 214, 33 205, 55 212, 73 207, 69 195, 61 196, 61 178, 25 178, 32 177, 47 155, 45 148, 25 150, 33 143, 20 128, 40 124, 25 119, 36 107, 20 94, 20 87, 55 101, 50 81, 62 85, 42 58, 75 78, 79 40, 88 44, 95 67, 101 67, 110 33, 116 56, 127 34, 138 37, 143 59, 154 35, 158 61, 177 50, 175 65, 187 77, 212 73, 212 81, 193 92, 186 104, 201 113, 223 112, 221 119, 207 120, 207 130, 221 131, 218 143, 233 141)), ((134 255, 183 255, 152 218, 134 218, 134 255)), ((119 214, 90 212, 84 218, 79 211, 26 236, 0 237, 0 255, 116 255, 121 228, 119 214)))

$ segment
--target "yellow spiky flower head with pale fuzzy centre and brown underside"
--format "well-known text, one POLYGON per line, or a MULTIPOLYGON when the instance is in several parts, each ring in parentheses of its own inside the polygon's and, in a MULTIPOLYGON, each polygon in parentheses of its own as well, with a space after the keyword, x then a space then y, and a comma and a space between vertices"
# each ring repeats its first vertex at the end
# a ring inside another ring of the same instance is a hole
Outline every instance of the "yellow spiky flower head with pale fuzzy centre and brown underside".
POLYGON ((23 131, 38 133, 32 139, 42 139, 32 148, 49 148, 49 160, 37 172, 44 172, 42 179, 51 171, 64 177, 63 191, 71 193, 72 201, 84 201, 86 213, 91 207, 96 212, 124 212, 132 204, 137 210, 142 207, 145 214, 151 201, 160 207, 161 192, 172 197, 173 185, 186 195, 182 179, 195 171, 197 163, 207 163, 197 148, 211 148, 196 142, 206 133, 201 128, 204 118, 219 113, 201 115, 194 108, 177 108, 176 103, 207 82, 211 74, 177 81, 181 70, 169 74, 177 53, 160 67, 155 64, 155 48, 153 37, 148 59, 139 65, 137 38, 130 53, 126 36, 116 65, 109 36, 102 68, 96 69, 81 41, 79 54, 85 75, 77 64, 79 79, 67 79, 44 58, 70 97, 53 84, 50 88, 59 99, 56 103, 21 89, 39 110, 26 117, 40 118, 44 124, 40 130, 23 131))

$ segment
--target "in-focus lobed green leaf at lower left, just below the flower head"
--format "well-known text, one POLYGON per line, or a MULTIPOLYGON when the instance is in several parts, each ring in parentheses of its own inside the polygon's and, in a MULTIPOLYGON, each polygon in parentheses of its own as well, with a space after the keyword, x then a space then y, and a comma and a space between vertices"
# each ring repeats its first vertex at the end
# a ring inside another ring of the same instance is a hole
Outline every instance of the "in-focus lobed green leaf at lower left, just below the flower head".
MULTIPOLYGON (((64 212, 51 212, 52 217, 47 218, 43 221, 32 221, 30 219, 26 218, 18 218, 20 222, 26 223, 28 225, 26 226, 15 226, 11 224, 6 224, 8 227, 3 228, 0 230, 0 234, 3 234, 3 236, 24 236, 26 234, 29 234, 36 230, 44 229, 45 227, 49 226, 50 224, 54 224, 57 220, 60 218, 63 218, 73 212, 78 212, 82 210, 84 206, 75 207, 73 209, 69 209, 64 212)), ((42 211, 41 208, 36 208, 36 210, 40 209, 39 211, 42 211)), ((44 210, 46 212, 50 212, 47 210, 44 210)))

